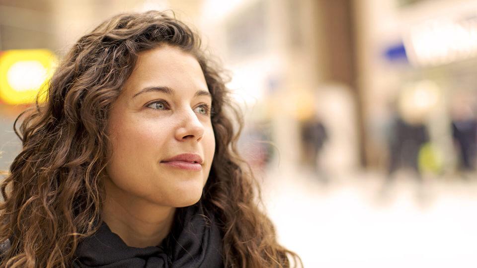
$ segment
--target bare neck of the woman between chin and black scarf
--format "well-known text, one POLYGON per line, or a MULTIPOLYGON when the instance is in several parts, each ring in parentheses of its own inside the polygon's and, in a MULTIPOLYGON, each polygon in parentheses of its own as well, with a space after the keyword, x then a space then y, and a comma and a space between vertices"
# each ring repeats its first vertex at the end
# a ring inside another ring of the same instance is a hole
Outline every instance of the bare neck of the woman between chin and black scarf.
POLYGON ((175 208, 159 206, 132 196, 105 180, 106 199, 102 219, 126 245, 136 248, 158 246, 169 233, 175 208))

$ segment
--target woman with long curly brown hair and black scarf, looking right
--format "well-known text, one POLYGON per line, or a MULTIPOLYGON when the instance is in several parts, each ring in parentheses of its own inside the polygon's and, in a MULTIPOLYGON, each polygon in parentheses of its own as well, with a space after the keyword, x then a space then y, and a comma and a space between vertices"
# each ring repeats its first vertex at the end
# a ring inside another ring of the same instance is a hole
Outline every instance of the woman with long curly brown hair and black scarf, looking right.
POLYGON ((162 12, 118 15, 80 38, 46 103, 18 118, 23 149, 1 185, 1 265, 300 262, 257 208, 224 83, 197 35, 162 12))

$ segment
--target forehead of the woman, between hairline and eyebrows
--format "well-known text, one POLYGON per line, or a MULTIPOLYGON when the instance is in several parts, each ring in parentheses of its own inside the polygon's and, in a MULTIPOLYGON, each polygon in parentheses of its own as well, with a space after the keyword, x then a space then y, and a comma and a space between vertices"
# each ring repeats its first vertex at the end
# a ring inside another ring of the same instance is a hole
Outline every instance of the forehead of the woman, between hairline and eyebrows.
POLYGON ((139 53, 136 67, 126 80, 124 89, 135 94, 141 88, 151 86, 208 91, 197 59, 178 48, 165 45, 139 53))

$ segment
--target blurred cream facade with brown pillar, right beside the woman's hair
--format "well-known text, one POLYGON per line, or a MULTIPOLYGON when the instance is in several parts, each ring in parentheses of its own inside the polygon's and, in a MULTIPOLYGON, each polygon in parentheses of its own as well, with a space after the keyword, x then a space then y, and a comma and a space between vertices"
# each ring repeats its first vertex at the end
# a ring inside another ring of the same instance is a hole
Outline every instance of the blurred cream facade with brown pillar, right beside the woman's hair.
MULTIPOLYGON (((201 28, 234 75, 230 88, 250 123, 244 139, 248 132, 269 134, 263 138, 272 141, 265 147, 273 167, 312 163, 333 172, 358 168, 363 133, 351 2, 221 2, 204 2, 201 28), (305 134, 315 145, 303 139, 304 126, 312 122, 327 133, 326 140, 318 140, 320 131, 315 138, 313 132, 305 134), (319 150, 307 153, 313 146, 319 150)), ((253 150, 264 143, 252 136, 245 144, 245 150, 253 150)), ((249 154, 253 159, 255 154, 249 154)))

